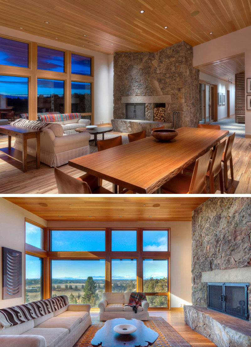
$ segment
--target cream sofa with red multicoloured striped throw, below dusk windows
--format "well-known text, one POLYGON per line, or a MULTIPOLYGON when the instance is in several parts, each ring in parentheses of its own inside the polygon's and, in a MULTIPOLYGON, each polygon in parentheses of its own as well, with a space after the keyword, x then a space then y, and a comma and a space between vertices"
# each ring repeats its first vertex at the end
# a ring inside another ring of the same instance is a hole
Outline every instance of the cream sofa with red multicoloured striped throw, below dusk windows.
POLYGON ((85 128, 91 124, 90 119, 82 119, 81 113, 59 113, 56 115, 39 115, 38 120, 41 122, 52 122, 53 124, 60 124, 64 130, 64 134, 70 135, 76 133, 74 129, 85 128), (76 117, 70 119, 71 117, 76 117), (68 119, 67 119, 68 118, 68 119), (59 120, 64 119, 64 120, 59 120))

